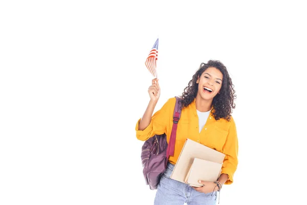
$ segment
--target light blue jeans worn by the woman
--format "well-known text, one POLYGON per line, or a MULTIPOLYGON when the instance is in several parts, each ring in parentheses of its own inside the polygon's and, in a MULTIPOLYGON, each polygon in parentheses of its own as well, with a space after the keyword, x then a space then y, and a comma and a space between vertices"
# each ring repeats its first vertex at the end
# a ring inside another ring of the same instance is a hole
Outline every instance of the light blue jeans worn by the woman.
POLYGON ((217 192, 201 193, 194 190, 186 183, 173 180, 170 177, 174 165, 167 163, 167 168, 161 177, 158 190, 155 197, 155 205, 179 205, 187 203, 188 205, 216 204, 217 192))

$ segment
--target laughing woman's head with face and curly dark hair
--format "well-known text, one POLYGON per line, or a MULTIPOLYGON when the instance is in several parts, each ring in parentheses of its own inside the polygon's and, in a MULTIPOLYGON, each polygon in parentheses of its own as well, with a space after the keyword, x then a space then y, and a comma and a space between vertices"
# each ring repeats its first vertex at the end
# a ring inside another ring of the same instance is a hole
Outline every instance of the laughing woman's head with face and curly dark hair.
POLYGON ((196 98, 198 108, 208 111, 214 108, 214 117, 230 119, 232 109, 235 108, 236 98, 234 85, 226 67, 217 60, 209 60, 207 64, 202 63, 199 70, 193 75, 188 86, 182 94, 182 105, 187 107, 196 98), (202 90, 203 92, 198 92, 202 90), (211 92, 210 92, 211 91, 211 92), (204 99, 204 100, 201 100, 204 99), (205 105, 204 105, 205 104, 205 105))

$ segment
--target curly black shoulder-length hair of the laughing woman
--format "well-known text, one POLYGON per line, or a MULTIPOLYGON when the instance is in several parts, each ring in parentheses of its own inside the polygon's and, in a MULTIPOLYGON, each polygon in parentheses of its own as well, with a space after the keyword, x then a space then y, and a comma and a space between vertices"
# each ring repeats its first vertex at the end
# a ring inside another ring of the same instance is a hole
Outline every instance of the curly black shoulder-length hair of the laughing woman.
POLYGON ((234 85, 228 74, 226 67, 218 60, 209 60, 207 64, 202 63, 198 71, 195 72, 193 78, 189 81, 188 86, 184 89, 181 95, 182 108, 188 107, 195 99, 198 92, 198 84, 196 80, 203 74, 207 68, 214 67, 220 70, 223 74, 223 82, 220 94, 214 96, 212 101, 212 115, 216 120, 224 118, 230 120, 232 109, 235 108, 234 99, 236 99, 234 85))

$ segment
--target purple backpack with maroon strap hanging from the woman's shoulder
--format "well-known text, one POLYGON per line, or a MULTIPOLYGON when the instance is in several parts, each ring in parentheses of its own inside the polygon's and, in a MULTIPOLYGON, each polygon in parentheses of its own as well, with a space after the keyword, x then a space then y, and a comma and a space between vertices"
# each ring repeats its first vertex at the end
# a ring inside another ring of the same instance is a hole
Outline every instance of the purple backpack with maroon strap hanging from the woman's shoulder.
POLYGON ((169 144, 167 144, 166 134, 162 134, 150 137, 142 146, 143 175, 146 185, 149 185, 151 190, 158 188, 160 178, 167 166, 168 157, 174 155, 176 131, 181 116, 181 101, 177 96, 175 105, 169 144))

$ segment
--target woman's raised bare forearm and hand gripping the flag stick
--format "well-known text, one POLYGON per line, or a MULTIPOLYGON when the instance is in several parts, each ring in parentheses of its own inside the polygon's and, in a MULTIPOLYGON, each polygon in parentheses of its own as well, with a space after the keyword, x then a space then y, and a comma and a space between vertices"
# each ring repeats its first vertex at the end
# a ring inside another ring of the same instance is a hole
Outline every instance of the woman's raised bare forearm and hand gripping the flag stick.
POLYGON ((160 87, 157 78, 152 79, 151 86, 148 88, 148 93, 150 96, 150 101, 143 117, 141 118, 141 121, 139 122, 139 130, 144 130, 148 127, 151 121, 153 110, 155 110, 155 107, 158 103, 158 99, 160 97, 160 87))

